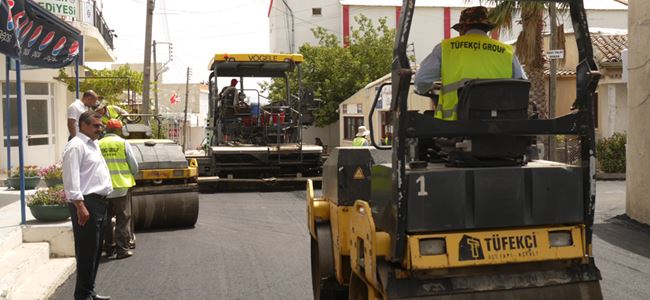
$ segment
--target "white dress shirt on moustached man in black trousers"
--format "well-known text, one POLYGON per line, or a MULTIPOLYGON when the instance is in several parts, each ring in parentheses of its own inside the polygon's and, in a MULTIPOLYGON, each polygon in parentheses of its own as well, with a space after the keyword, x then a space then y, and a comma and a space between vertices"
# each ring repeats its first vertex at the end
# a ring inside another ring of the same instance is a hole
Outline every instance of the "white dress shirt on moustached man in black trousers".
POLYGON ((99 142, 79 132, 63 151, 63 189, 68 201, 83 195, 106 196, 113 191, 111 174, 99 149, 99 142))

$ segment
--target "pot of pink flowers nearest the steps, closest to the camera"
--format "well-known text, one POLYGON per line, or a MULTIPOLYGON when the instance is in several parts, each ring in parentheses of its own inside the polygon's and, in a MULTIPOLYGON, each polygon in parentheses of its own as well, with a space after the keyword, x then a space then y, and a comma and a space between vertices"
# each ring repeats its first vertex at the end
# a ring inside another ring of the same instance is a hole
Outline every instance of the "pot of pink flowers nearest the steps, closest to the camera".
POLYGON ((39 189, 27 198, 27 207, 36 220, 43 222, 65 221, 70 217, 63 185, 39 189))

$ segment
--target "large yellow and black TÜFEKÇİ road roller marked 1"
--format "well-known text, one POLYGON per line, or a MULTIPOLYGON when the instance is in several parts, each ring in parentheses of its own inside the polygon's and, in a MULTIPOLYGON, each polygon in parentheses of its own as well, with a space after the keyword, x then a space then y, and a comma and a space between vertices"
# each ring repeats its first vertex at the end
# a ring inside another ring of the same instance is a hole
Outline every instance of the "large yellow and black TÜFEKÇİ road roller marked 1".
POLYGON ((322 196, 307 183, 315 299, 602 298, 592 252, 599 73, 582 1, 555 2, 568 4, 579 50, 574 110, 530 119, 527 81, 472 80, 457 121, 408 109, 415 1, 403 2, 392 151, 373 132, 374 147, 331 153, 322 196), (534 136, 559 134, 579 137, 579 163, 528 157, 534 136))

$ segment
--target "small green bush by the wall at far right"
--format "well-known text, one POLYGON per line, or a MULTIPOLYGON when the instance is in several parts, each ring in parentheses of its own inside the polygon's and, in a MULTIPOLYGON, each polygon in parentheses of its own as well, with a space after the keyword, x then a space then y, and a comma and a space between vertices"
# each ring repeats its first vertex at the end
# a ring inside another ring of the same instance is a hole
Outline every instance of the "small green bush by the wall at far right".
POLYGON ((605 173, 625 173, 627 134, 614 133, 596 143, 596 158, 605 173))

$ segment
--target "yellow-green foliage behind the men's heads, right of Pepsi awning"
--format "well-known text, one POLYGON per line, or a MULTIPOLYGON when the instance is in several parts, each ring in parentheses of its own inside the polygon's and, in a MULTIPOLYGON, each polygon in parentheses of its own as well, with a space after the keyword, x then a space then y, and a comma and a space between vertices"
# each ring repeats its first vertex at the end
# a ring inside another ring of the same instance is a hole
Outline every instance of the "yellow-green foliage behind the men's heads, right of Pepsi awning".
MULTIPOLYGON (((95 70, 84 67, 86 77, 104 77, 104 78, 85 78, 79 79, 79 91, 84 92, 93 90, 99 96, 103 96, 104 100, 110 104, 119 104, 124 91, 129 88, 129 81, 131 81, 131 91, 138 94, 142 93, 142 73, 133 71, 129 65, 121 66, 117 70, 95 70), (106 77, 119 77, 119 78, 106 78, 106 77)), ((64 69, 59 70, 59 78, 68 85, 68 90, 73 92, 76 89, 75 77, 66 74, 64 69)))

